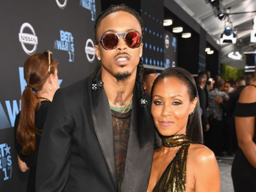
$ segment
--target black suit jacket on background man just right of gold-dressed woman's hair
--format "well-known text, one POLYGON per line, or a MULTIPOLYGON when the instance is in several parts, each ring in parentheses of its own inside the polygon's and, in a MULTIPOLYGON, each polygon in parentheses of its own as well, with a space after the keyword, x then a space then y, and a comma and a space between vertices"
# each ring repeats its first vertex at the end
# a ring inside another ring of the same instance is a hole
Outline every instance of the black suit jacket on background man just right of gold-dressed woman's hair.
POLYGON ((207 98, 206 98, 206 91, 202 89, 201 87, 197 86, 197 92, 199 96, 199 102, 200 102, 200 108, 202 109, 202 127, 205 129, 206 125, 208 125, 208 118, 207 118, 207 112, 206 112, 206 106, 207 106, 207 98))

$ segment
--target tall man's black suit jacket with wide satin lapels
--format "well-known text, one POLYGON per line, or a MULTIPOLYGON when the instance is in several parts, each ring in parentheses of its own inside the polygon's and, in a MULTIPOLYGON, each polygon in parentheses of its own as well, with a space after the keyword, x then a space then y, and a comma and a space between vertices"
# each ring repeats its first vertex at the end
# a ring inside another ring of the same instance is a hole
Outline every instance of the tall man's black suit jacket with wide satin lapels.
MULTIPOLYGON (((37 158, 36 191, 117 191, 109 101, 92 78, 59 89, 48 111, 37 158)), ((122 192, 146 191, 154 146, 150 107, 134 87, 122 192)))

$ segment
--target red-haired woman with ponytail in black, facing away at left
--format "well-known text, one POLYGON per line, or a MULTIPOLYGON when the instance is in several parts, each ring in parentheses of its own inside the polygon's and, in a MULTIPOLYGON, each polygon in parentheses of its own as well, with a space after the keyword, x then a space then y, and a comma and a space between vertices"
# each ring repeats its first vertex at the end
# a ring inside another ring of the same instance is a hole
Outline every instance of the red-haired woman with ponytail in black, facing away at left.
POLYGON ((21 96, 21 112, 16 116, 14 138, 21 171, 30 169, 27 191, 34 192, 40 135, 54 93, 59 88, 58 63, 47 50, 30 56, 24 65, 27 87, 21 96))

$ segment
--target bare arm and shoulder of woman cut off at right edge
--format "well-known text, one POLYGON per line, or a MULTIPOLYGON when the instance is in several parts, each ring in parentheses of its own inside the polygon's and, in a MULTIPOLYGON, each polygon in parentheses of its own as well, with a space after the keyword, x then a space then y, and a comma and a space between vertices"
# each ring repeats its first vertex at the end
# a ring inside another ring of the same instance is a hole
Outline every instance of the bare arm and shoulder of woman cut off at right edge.
MULTIPOLYGON (((256 89, 248 86, 243 89, 239 97, 239 103, 254 103, 256 100, 256 89)), ((255 129, 255 116, 235 117, 235 129, 240 149, 247 160, 256 169, 256 144, 253 142, 255 129)))

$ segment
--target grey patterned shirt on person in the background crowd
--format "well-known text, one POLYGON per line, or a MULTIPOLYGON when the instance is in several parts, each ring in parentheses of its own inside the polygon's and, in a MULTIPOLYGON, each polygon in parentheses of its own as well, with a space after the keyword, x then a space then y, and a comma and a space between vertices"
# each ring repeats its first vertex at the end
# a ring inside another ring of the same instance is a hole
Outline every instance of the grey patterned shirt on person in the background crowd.
POLYGON ((223 110, 220 107, 220 104, 215 101, 216 97, 220 97, 223 99, 223 101, 227 100, 228 95, 226 92, 222 92, 219 89, 215 88, 213 91, 209 92, 208 96, 208 117, 213 117, 216 120, 221 121, 222 120, 222 114, 223 110))

